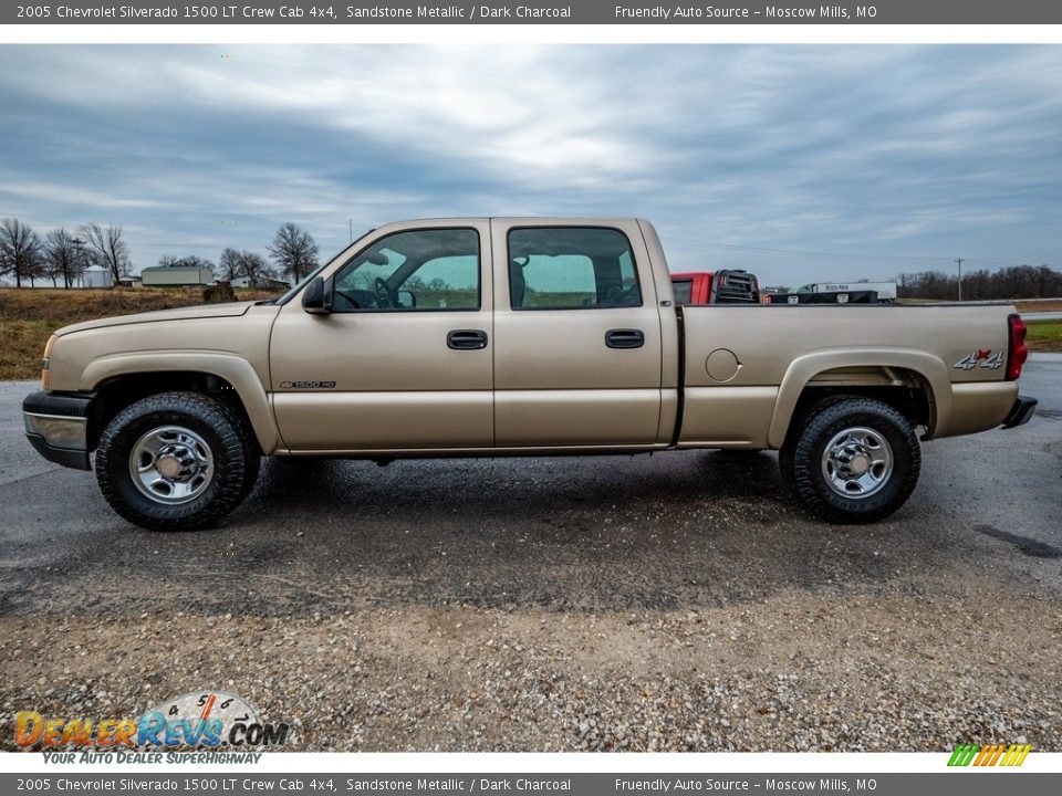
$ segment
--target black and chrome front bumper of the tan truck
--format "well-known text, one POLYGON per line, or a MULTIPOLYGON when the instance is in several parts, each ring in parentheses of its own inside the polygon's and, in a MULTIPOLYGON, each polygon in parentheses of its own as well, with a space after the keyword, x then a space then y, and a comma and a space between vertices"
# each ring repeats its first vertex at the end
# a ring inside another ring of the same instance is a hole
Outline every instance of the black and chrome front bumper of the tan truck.
POLYGON ((34 392, 22 401, 25 438, 51 462, 75 470, 92 470, 88 463, 88 412, 93 398, 92 394, 34 392))

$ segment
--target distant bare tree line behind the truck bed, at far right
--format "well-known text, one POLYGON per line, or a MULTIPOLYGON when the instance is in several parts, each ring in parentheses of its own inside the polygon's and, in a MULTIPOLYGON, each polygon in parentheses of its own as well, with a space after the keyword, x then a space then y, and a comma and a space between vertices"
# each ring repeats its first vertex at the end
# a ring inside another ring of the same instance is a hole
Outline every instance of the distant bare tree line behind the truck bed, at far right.
MULTIPOLYGON (((959 293, 957 273, 923 271, 896 276, 902 298, 954 300, 959 293)), ((1062 296, 1062 272, 1047 265, 1011 265, 962 273, 962 300, 1058 298, 1062 296)))

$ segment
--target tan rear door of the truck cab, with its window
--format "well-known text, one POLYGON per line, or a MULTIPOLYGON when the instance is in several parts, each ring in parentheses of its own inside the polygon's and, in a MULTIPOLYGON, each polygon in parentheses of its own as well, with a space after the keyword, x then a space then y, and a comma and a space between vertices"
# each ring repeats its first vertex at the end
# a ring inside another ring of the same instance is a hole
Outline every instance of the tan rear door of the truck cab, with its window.
POLYGON ((492 219, 500 448, 658 441, 662 333, 634 220, 492 219))

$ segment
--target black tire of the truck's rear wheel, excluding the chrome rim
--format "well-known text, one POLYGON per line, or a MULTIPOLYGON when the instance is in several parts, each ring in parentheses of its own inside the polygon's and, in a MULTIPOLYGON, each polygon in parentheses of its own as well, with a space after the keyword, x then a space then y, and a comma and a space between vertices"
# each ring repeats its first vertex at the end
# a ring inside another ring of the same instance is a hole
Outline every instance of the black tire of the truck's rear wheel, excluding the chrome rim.
POLYGON ((844 524, 883 520, 907 501, 918 483, 922 449, 915 428, 887 404, 860 396, 832 397, 798 422, 779 454, 779 465, 801 503, 821 520, 844 524), (888 476, 866 496, 839 494, 823 472, 830 441, 853 428, 871 429, 884 438, 892 458, 888 476))

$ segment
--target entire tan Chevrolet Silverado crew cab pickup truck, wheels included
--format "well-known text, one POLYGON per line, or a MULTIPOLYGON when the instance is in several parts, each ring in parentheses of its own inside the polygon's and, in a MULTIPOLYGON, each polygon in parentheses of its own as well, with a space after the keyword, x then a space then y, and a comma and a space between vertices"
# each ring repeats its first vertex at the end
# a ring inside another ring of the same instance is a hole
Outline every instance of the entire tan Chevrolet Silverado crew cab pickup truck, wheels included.
POLYGON ((639 219, 471 218, 371 231, 277 301, 75 324, 27 398, 38 451, 116 512, 205 527, 261 457, 779 450, 835 522, 896 511, 919 438, 1029 420, 1004 304, 675 305, 639 219))

